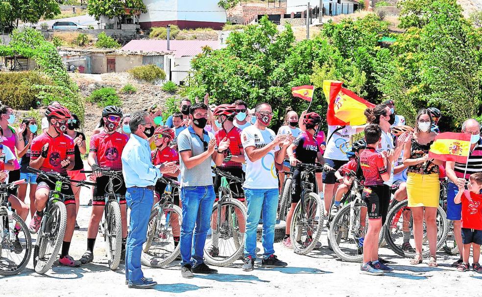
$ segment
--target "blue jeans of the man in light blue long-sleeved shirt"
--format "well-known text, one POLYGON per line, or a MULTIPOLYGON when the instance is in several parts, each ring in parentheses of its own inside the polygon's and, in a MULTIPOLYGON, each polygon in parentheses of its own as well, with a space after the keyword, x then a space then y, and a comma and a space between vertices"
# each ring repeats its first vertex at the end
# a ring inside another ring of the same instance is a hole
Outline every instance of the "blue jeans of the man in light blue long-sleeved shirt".
POLYGON ((141 252, 146 239, 154 192, 147 188, 127 188, 125 200, 131 210, 125 245, 125 279, 138 281, 144 277, 141 270, 141 252))

